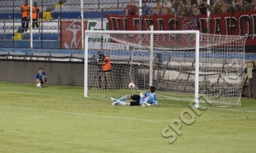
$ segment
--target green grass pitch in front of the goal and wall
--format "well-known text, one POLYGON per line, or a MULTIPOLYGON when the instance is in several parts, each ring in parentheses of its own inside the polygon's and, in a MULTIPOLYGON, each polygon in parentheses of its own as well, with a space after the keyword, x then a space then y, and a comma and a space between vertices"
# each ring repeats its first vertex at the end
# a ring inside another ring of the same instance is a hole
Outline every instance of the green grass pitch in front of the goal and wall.
MULTIPOLYGON (((84 98, 82 87, 0 82, 1 152, 255 152, 256 100, 207 108, 176 141, 161 131, 189 102, 112 106, 84 98)), ((189 119, 187 115, 185 115, 189 119)), ((172 129, 169 127, 169 131, 172 129)), ((169 132, 167 131, 167 132, 169 132)))

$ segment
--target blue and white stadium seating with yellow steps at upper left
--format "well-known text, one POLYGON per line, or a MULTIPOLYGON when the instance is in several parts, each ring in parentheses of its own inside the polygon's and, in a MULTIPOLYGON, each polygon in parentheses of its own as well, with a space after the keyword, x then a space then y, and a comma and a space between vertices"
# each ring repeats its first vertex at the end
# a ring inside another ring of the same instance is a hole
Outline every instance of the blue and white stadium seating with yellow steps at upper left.
MULTIPOLYGON (((135 0, 136 1, 136 0, 135 0)), ((137 0, 138 1, 138 0, 137 0)), ((60 19, 79 19, 81 16, 80 1, 77 0, 39 0, 39 27, 32 29, 33 48, 59 48, 60 19), (40 40, 46 40, 40 42, 40 40)), ((84 18, 107 18, 108 14, 123 14, 123 8, 130 0, 84 0, 84 18), (103 13, 103 14, 102 14, 103 13)), ((20 7, 24 0, 0 1, 0 45, 2 47, 27 48, 30 40, 30 29, 22 33, 20 7), (10 41, 9 41, 10 40, 10 41), (11 40, 17 40, 15 43, 11 40), (21 41, 20 41, 21 40, 21 41), (22 42, 22 40, 28 43, 22 42)), ((30 27, 29 27, 30 28, 30 27)))

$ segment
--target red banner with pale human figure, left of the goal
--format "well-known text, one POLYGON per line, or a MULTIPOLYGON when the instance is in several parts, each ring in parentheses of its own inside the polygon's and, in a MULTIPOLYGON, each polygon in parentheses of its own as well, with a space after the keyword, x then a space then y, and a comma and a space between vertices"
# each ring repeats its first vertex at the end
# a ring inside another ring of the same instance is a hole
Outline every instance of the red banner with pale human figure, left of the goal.
MULTIPOLYGON (((84 31, 87 28, 87 21, 84 21, 84 31)), ((61 21, 61 48, 81 49, 81 21, 61 21)))

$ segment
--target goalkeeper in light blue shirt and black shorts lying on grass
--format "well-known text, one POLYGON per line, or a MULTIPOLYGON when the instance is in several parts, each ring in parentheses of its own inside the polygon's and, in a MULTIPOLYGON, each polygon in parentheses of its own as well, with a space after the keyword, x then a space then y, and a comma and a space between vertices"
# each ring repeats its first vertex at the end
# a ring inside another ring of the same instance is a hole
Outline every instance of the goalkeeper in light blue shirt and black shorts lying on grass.
POLYGON ((158 105, 158 100, 155 94, 155 87, 150 86, 148 88, 148 91, 145 93, 141 93, 140 95, 125 95, 121 97, 120 99, 114 99, 113 97, 111 100, 114 101, 112 105, 123 105, 123 106, 157 106, 158 105), (127 99, 132 99, 135 101, 131 101, 126 103, 125 100, 127 99))

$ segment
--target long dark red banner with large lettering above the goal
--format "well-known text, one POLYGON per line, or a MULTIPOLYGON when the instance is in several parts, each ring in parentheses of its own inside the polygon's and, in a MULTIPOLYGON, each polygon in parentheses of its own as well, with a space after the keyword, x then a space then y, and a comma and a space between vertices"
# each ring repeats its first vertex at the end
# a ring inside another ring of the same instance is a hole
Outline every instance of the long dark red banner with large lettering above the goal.
MULTIPOLYGON (((137 31, 139 16, 108 15, 110 30, 137 31)), ((246 46, 256 46, 256 10, 234 12, 233 14, 210 14, 179 17, 174 15, 142 16, 142 30, 149 30, 154 25, 155 31, 167 30, 199 30, 203 33, 216 35, 248 36, 246 46), (208 28, 209 27, 209 28, 208 28)))

